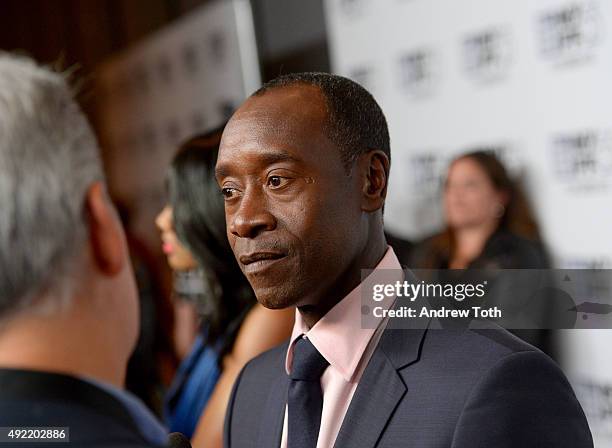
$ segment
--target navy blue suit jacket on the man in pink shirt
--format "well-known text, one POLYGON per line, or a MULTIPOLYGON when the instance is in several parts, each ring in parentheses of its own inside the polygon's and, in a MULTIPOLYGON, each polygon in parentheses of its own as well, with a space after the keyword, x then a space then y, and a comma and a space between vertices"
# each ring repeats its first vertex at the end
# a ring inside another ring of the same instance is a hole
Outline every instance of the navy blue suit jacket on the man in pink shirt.
MULTIPOLYGON (((225 447, 280 445, 287 344, 249 362, 232 392, 225 447)), ((338 448, 590 448, 559 367, 499 327, 386 329, 334 445, 338 448)))

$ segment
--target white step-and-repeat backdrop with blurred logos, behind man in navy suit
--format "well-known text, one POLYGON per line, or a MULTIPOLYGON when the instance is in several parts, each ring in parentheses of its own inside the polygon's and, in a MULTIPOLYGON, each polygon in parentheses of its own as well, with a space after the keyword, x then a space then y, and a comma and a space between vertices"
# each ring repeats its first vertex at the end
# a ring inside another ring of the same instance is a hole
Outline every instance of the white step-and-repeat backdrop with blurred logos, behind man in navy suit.
MULTIPOLYGON (((612 267, 612 1, 326 0, 336 73, 386 112, 386 222, 441 224, 450 158, 491 148, 528 192, 558 267, 612 267)), ((562 335, 598 447, 612 447, 612 331, 562 335)))

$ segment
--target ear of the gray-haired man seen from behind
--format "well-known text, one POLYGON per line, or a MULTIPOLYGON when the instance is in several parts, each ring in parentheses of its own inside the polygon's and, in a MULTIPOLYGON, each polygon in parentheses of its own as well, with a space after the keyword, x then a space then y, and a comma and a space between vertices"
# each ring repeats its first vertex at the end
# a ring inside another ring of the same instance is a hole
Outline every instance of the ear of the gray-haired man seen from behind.
POLYGON ((126 262, 123 228, 101 182, 92 184, 87 190, 86 208, 94 261, 102 273, 115 276, 126 262))

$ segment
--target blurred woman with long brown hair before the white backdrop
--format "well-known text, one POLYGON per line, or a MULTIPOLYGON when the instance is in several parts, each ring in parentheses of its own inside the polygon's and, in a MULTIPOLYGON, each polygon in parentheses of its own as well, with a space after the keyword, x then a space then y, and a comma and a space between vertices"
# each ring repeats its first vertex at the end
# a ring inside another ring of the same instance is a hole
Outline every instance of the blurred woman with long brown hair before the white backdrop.
POLYGON ((444 212, 445 229, 414 249, 411 268, 548 267, 527 199, 493 153, 475 151, 453 160, 444 212))

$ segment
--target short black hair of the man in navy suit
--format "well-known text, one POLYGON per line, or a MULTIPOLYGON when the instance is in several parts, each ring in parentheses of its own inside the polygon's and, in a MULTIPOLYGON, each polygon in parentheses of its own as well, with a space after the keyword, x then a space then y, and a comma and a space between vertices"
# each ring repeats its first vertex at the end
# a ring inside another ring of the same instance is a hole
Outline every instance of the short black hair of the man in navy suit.
POLYGON ((385 115, 370 92, 355 81, 330 73, 290 73, 268 81, 253 96, 296 84, 316 86, 323 93, 328 117, 325 132, 340 148, 347 169, 360 154, 373 149, 391 160, 385 115))

